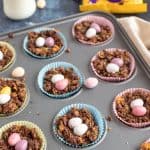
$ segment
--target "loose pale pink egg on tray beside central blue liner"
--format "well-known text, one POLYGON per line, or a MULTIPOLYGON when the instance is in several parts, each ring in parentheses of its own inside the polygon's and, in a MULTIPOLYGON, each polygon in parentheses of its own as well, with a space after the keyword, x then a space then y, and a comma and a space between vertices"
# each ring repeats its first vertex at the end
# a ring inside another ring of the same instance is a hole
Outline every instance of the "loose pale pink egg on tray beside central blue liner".
POLYGON ((84 85, 89 89, 95 88, 98 85, 98 79, 93 77, 87 78, 84 82, 84 85))

